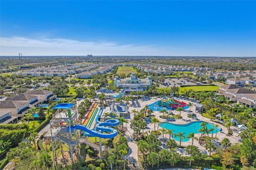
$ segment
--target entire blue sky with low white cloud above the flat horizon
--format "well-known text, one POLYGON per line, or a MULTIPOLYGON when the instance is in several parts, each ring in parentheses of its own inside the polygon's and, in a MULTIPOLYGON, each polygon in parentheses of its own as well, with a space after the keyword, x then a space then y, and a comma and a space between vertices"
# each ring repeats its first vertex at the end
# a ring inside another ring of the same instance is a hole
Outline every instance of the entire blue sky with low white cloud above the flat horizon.
POLYGON ((255 1, 1 1, 0 54, 256 56, 255 1))

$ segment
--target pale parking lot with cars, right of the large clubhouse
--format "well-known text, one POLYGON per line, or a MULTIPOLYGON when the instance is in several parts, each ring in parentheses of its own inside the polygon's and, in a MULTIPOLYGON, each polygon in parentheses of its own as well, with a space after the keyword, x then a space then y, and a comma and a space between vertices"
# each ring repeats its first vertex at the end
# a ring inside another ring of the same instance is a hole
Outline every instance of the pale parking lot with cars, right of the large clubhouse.
POLYGON ((164 81, 164 84, 159 84, 159 87, 172 87, 177 86, 180 87, 180 85, 198 85, 194 82, 190 82, 188 80, 185 80, 183 78, 167 78, 164 81))

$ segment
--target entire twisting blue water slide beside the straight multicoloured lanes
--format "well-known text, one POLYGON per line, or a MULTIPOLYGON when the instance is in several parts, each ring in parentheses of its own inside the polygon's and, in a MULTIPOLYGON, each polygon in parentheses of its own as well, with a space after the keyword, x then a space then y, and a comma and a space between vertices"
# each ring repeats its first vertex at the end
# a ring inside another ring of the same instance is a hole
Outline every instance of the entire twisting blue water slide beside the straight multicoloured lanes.
POLYGON ((119 121, 115 119, 110 119, 105 122, 100 122, 99 119, 101 117, 102 112, 103 108, 100 109, 99 114, 96 117, 96 129, 89 129, 84 125, 76 125, 75 128, 81 131, 85 131, 85 135, 88 137, 99 137, 103 139, 114 138, 117 135, 117 130, 109 128, 107 126, 116 126, 119 124, 119 121))

